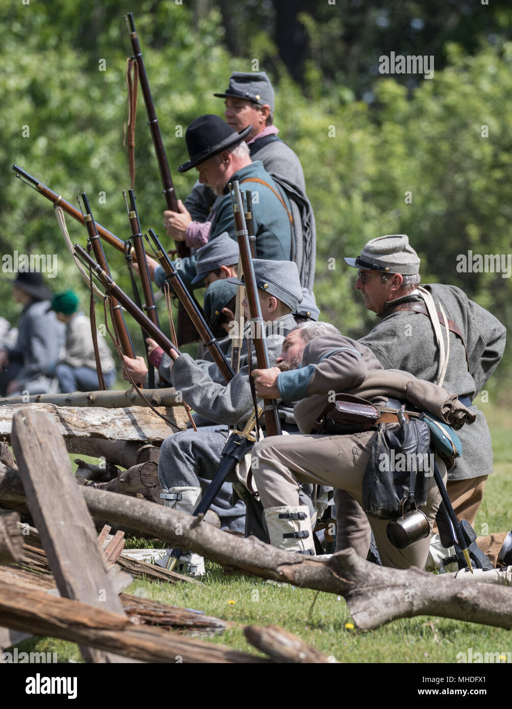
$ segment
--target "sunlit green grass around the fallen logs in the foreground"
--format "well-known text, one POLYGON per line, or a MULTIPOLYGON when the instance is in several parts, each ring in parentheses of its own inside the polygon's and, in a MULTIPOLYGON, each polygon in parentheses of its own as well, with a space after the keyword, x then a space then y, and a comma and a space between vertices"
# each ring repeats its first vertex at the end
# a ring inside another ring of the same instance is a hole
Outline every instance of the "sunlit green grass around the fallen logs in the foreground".
MULTIPOLYGON (((512 528, 512 410, 489 406, 484 411, 493 439, 494 474, 486 483, 475 527, 480 532, 483 524, 489 525, 489 533, 492 533, 512 528)), ((152 545, 151 540, 138 537, 129 540, 130 547, 152 545)), ((161 542, 155 541, 154 545, 159 547, 161 542)), ((343 662, 454 663, 457 653, 468 652, 469 647, 473 652, 511 652, 510 632, 444 618, 421 616, 395 620, 377 630, 359 632, 345 627, 351 618, 345 601, 339 596, 307 588, 276 586, 256 577, 228 576, 210 562, 206 562, 206 570, 203 586, 134 581, 126 591, 162 603, 203 610, 207 615, 241 626, 281 625, 343 662)), ((208 642, 259 654, 245 641, 242 627, 208 638, 208 642)), ((59 661, 81 661, 77 646, 61 640, 33 638, 20 643, 18 649, 19 652, 57 652, 59 661)))

